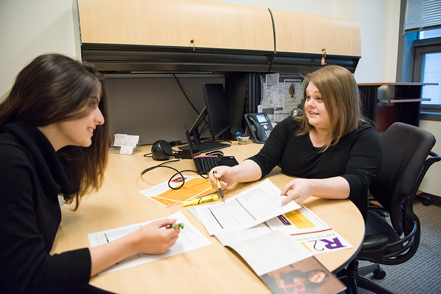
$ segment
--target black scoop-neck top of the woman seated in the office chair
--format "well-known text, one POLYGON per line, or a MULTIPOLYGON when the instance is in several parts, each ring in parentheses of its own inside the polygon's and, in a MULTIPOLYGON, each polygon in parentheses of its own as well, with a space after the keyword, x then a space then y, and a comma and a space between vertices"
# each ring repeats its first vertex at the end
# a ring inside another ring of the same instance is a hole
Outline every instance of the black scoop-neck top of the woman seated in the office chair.
POLYGON ((343 177, 351 189, 349 199, 366 219, 367 189, 383 162, 381 139, 375 128, 361 124, 322 153, 313 146, 309 134, 297 136, 298 130, 292 116, 284 119, 271 131, 262 150, 249 158, 260 166, 262 177, 279 164, 284 173, 298 178, 343 177))

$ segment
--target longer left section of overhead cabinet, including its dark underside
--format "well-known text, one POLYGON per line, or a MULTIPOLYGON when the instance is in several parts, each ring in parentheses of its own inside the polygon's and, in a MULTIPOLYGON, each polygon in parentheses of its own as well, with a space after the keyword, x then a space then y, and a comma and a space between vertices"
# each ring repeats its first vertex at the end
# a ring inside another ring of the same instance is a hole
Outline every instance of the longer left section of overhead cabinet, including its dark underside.
POLYGON ((267 71, 268 9, 209 0, 78 0, 82 58, 103 71, 267 71))

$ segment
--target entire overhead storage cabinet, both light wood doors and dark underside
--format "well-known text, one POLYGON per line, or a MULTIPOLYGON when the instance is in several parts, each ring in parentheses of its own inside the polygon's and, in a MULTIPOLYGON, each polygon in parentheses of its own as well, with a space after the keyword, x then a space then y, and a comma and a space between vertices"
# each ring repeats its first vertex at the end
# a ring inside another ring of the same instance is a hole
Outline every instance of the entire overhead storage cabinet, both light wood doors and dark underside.
POLYGON ((77 0, 82 58, 102 71, 352 72, 357 23, 210 0, 77 0))

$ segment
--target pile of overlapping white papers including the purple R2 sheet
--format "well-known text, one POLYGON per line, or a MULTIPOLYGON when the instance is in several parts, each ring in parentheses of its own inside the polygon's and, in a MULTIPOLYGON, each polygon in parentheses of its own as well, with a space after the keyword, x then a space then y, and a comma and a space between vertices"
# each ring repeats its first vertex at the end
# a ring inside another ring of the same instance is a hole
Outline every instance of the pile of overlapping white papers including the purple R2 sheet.
POLYGON ((240 254, 258 276, 316 253, 352 248, 305 206, 292 201, 282 207, 285 197, 280 192, 267 179, 225 204, 189 211, 210 235, 240 254))

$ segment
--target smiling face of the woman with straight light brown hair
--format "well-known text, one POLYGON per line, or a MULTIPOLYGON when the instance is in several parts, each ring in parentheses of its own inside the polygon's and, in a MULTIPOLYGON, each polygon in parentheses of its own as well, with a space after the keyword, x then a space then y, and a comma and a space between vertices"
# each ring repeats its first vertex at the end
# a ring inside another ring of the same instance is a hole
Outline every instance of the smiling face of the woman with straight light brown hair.
POLYGON ((324 105, 320 91, 309 82, 306 88, 305 112, 308 122, 318 130, 329 130, 331 128, 331 119, 328 110, 324 105))

